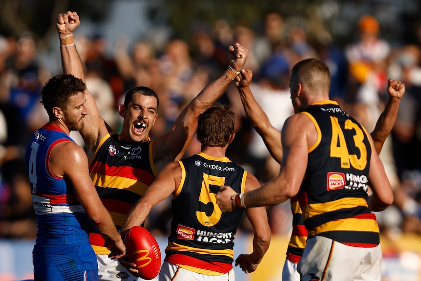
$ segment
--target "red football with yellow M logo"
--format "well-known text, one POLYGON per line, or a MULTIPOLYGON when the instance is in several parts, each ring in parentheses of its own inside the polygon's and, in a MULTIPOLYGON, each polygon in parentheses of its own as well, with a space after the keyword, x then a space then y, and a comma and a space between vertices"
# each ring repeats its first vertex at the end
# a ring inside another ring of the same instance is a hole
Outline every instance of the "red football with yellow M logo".
POLYGON ((141 226, 130 228, 124 239, 126 254, 135 263, 140 278, 154 279, 161 269, 161 251, 155 238, 141 226))

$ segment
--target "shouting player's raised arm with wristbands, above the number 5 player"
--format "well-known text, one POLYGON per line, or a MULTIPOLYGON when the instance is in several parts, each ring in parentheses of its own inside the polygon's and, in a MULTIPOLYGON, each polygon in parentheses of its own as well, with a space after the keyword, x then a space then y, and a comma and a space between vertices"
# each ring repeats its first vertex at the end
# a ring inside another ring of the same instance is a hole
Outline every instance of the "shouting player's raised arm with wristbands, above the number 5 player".
POLYGON ((239 43, 230 46, 228 50, 230 64, 227 70, 190 101, 167 134, 154 141, 152 153, 157 171, 160 171, 168 162, 180 159, 183 156, 197 129, 199 114, 212 106, 222 96, 236 77, 236 72, 239 73, 243 68, 247 56, 248 50, 239 43))

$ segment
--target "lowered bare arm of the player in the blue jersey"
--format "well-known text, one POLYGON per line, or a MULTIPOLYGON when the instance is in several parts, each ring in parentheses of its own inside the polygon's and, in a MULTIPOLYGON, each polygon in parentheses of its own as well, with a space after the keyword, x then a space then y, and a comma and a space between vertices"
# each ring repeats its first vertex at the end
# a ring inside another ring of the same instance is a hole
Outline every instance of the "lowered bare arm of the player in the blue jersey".
POLYGON ((76 197, 94 227, 113 242, 111 256, 123 256, 126 247, 92 184, 84 150, 73 142, 57 144, 51 152, 50 168, 53 174, 62 175, 70 181, 76 197))

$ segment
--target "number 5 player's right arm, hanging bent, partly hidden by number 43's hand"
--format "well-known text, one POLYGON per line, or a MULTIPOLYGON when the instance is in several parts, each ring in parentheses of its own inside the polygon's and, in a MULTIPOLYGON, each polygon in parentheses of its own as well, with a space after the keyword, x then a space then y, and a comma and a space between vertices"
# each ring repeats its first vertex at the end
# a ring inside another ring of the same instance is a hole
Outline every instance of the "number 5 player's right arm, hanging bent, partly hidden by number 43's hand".
MULTIPOLYGON (((260 186, 258 180, 251 173, 247 174, 245 191, 250 191, 260 186)), ((263 256, 271 242, 271 229, 268 216, 264 207, 248 208, 246 215, 254 230, 253 253, 250 255, 239 255, 235 259, 235 265, 239 265, 245 273, 256 270, 257 265, 262 261, 263 256)))

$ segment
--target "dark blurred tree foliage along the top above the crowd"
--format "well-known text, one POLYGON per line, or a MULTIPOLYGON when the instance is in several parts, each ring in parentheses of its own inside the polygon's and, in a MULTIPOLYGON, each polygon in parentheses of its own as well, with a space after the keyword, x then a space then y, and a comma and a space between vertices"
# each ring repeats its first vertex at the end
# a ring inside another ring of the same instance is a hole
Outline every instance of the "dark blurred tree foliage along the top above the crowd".
MULTIPOLYGON (((358 17, 372 14, 379 20, 381 36, 393 44, 419 43, 421 22, 418 0, 121 0, 145 2, 153 25, 170 27, 174 36, 189 41, 199 25, 224 19, 232 26, 263 28, 263 17, 279 12, 285 21, 305 25, 308 34, 324 30, 343 45, 355 38, 358 17)), ((0 34, 19 36, 31 31, 39 40, 55 32, 52 24, 60 12, 77 11, 84 19, 101 24, 113 13, 113 0, 0 0, 0 34)), ((136 19, 133 19, 136 21, 136 19)))

